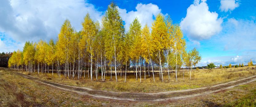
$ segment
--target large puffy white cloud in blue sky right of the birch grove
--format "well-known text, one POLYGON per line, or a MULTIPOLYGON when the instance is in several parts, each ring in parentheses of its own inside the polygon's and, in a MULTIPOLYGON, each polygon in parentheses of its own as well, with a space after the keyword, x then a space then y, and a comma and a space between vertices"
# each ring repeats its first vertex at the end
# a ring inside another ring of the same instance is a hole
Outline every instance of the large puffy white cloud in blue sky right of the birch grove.
POLYGON ((180 26, 189 39, 203 40, 219 33, 222 21, 218 13, 209 11, 206 1, 195 0, 187 8, 186 17, 182 18, 180 26))

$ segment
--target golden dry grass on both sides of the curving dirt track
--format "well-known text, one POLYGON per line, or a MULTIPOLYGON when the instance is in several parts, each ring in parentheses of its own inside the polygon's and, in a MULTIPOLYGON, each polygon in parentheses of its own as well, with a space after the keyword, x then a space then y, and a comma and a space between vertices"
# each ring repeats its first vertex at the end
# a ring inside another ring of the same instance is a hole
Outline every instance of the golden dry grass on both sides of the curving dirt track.
MULTIPOLYGON (((20 72, 20 71, 19 71, 20 72)), ((26 73, 26 72, 23 72, 26 73)), ((133 86, 140 85, 141 87, 145 87, 148 84, 151 84, 154 87, 150 87, 150 90, 166 90, 166 87, 178 87, 182 86, 185 83, 190 84, 202 84, 201 87, 216 83, 222 83, 225 81, 231 81, 238 78, 245 78, 248 76, 252 76, 255 74, 255 66, 254 67, 244 67, 244 68, 229 68, 229 69, 214 69, 212 71, 208 70, 199 70, 193 71, 194 79, 189 80, 188 76, 186 76, 185 81, 183 82, 183 75, 179 75, 178 82, 174 82, 173 76, 172 80, 168 82, 160 82, 159 77, 156 83, 150 83, 150 80, 142 81, 143 83, 139 83, 136 81, 134 76, 129 76, 127 83, 118 82, 116 83, 114 80, 107 80, 105 83, 101 81, 90 81, 88 79, 82 80, 71 80, 64 79, 63 76, 61 78, 54 77, 50 80, 51 75, 38 75, 38 77, 42 79, 46 79, 48 81, 55 81, 58 83, 65 82, 66 84, 76 85, 76 86, 90 86, 95 87, 96 89, 100 89, 99 87, 105 87, 105 90, 110 90, 110 85, 120 87, 120 86, 133 86), (182 77, 181 77, 182 76, 182 77), (207 78, 206 78, 207 77, 207 78), (220 77, 220 79, 216 79, 220 77), (58 81, 59 80, 59 81, 58 81), (208 81, 207 81, 208 80, 208 81), (202 81, 202 82, 199 82, 202 81), (196 83, 198 82, 198 83, 196 83), (107 84, 109 83, 109 84, 107 84), (133 83, 133 84, 132 84, 133 83), (94 85, 93 85, 94 84, 94 85), (97 84, 97 85, 95 85, 97 84), (159 85, 158 85, 159 84, 159 85), (163 88, 157 86, 165 86, 163 88), (154 89, 157 88, 157 89, 154 89)), ((31 74, 37 76, 37 74, 31 74)), ((55 75, 54 75, 55 76, 55 75)), ((56 75, 57 76, 57 75, 56 75)), ((159 75, 158 75, 159 76, 159 75)), ((165 79, 167 76, 165 75, 165 79)), ((120 79, 120 78, 119 78, 120 79)), ((13 70, 1 70, 0 69, 0 107, 6 106, 146 106, 146 107, 155 107, 155 106, 225 106, 225 107, 241 107, 241 106, 255 106, 256 105, 256 82, 240 85, 234 87, 232 89, 222 91, 219 93, 212 93, 205 96, 198 96, 196 98, 190 99, 180 99, 175 102, 122 102, 122 101, 109 101, 102 99, 94 99, 88 98, 88 96, 83 96, 79 94, 75 94, 73 92, 60 90, 58 88, 49 87, 43 85, 41 83, 37 83, 33 80, 23 78, 13 70)), ((101 88, 102 89, 102 88, 101 88)), ((135 89, 127 88, 127 91, 130 90, 140 90, 140 87, 135 87, 135 89)), ((173 88, 174 90, 175 88, 173 88)), ((176 88, 176 89, 184 89, 184 88, 176 88)), ((113 88, 115 91, 117 88, 113 88)))

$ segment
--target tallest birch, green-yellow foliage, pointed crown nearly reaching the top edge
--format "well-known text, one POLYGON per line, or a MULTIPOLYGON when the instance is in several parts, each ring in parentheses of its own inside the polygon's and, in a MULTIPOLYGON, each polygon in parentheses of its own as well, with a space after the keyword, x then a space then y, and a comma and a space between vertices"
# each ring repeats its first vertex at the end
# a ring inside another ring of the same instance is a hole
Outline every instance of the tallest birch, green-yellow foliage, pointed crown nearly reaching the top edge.
POLYGON ((110 3, 107 8, 103 28, 108 31, 105 41, 105 45, 108 47, 106 54, 108 55, 110 62, 112 61, 111 57, 113 57, 115 78, 117 82, 117 57, 122 46, 120 41, 122 41, 122 36, 124 35, 125 30, 122 18, 118 12, 118 6, 116 6, 114 2, 110 3))

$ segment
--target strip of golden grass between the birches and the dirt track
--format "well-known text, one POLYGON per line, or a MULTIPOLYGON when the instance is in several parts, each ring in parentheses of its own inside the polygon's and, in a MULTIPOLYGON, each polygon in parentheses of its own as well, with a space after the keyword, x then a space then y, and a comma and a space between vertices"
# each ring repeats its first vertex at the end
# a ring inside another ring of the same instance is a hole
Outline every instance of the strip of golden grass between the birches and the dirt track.
MULTIPOLYGON (((23 73, 27 74, 27 72, 23 73)), ((102 82, 101 76, 98 76, 98 81, 96 81, 94 77, 94 81, 88 79, 86 75, 86 79, 65 79, 63 74, 59 78, 57 74, 54 74, 54 78, 52 78, 52 74, 40 74, 31 73, 32 76, 36 76, 38 78, 62 83, 72 86, 80 86, 80 87, 90 87, 98 90, 111 90, 118 92, 162 92, 168 90, 183 90, 190 88, 198 88, 214 85, 217 83, 228 82, 236 79, 242 79, 250 76, 256 75, 256 68, 253 67, 243 67, 243 68, 226 68, 226 69, 201 69, 201 70, 193 70, 190 80, 190 74, 185 70, 185 79, 183 80, 183 70, 178 72, 178 81, 175 80, 175 72, 170 73, 170 80, 168 80, 168 74, 164 72, 164 82, 161 82, 159 79, 159 74, 155 75, 156 82, 154 83, 152 74, 150 77, 146 75, 146 80, 144 80, 144 73, 142 74, 142 83, 135 79, 133 73, 127 76, 127 82, 123 82, 123 78, 118 76, 118 82, 115 80, 110 80, 110 76, 106 77, 106 81, 102 82)), ((114 76, 112 76, 114 79, 114 76)))

